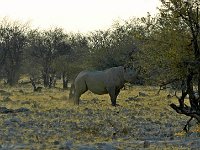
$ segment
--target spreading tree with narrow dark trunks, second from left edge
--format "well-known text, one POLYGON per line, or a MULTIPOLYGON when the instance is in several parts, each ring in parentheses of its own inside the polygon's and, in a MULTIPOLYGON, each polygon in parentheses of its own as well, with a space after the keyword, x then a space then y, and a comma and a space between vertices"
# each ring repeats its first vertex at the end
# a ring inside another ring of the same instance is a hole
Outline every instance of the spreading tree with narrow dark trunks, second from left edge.
POLYGON ((29 39, 29 54, 32 57, 30 60, 41 66, 44 86, 51 87, 56 74, 53 68, 54 60, 70 53, 71 50, 66 40, 67 35, 60 28, 43 32, 32 30, 29 33, 29 39))

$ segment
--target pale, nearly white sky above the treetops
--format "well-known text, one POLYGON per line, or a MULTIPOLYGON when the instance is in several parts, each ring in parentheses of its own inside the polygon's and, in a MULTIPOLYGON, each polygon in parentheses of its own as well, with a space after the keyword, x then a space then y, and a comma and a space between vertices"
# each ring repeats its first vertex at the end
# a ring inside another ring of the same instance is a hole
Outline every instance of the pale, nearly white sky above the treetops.
POLYGON ((158 5, 159 0, 0 0, 0 18, 86 33, 107 29, 116 20, 156 14, 158 5))

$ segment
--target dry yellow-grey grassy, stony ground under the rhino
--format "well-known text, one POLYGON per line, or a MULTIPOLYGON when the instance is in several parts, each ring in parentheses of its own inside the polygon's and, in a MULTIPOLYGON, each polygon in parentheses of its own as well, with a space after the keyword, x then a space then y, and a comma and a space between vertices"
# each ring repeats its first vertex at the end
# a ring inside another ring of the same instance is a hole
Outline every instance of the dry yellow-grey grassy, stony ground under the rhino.
POLYGON ((200 147, 200 126, 169 106, 175 97, 157 87, 122 90, 110 105, 108 95, 82 95, 79 106, 68 90, 31 85, 0 89, 0 149, 190 149, 200 147), (142 92, 142 93, 141 93, 142 92), (140 94, 139 94, 140 93, 140 94), (6 107, 6 108, 5 108, 6 107), (21 110, 21 111, 16 111, 21 110))

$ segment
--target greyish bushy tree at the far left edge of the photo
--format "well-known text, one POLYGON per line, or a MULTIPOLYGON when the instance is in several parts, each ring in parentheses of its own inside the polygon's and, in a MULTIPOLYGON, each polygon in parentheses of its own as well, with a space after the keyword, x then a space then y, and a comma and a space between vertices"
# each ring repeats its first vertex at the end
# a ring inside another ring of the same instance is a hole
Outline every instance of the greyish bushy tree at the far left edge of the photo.
POLYGON ((7 19, 0 24, 0 70, 9 85, 17 83, 27 46, 27 24, 7 19))

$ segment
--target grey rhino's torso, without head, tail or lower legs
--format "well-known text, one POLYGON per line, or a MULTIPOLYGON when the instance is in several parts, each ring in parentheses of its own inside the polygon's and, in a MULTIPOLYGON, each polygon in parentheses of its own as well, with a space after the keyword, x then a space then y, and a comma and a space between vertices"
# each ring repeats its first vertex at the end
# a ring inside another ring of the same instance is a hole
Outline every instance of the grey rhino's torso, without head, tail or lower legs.
POLYGON ((109 87, 121 89, 124 86, 123 67, 113 67, 104 71, 83 71, 75 79, 75 86, 87 86, 96 94, 106 94, 109 87))

